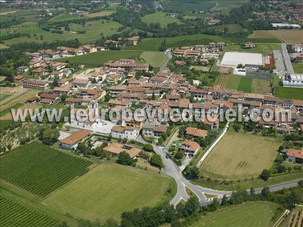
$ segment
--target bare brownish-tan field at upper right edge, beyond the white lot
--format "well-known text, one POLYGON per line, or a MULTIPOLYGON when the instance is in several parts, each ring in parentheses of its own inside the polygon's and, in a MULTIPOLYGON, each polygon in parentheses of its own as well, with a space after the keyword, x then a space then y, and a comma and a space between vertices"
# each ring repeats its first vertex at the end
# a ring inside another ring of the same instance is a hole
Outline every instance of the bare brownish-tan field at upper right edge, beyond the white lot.
POLYGON ((259 30, 254 31, 250 38, 280 38, 286 43, 302 42, 302 30, 259 30))

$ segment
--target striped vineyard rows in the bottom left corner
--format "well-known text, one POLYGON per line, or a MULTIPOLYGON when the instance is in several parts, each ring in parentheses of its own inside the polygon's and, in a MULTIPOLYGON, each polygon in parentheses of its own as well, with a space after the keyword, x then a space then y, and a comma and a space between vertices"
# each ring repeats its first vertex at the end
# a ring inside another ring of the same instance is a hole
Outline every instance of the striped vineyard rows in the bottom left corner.
POLYGON ((1 226, 54 226, 58 220, 0 196, 1 226))

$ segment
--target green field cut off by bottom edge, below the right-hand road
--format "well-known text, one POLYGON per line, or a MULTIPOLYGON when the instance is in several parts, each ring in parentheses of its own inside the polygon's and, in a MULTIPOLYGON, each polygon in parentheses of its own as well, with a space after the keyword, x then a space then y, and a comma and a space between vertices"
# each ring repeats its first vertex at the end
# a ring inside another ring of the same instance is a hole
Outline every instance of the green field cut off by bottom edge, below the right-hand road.
POLYGON ((246 202, 219 209, 208 216, 202 216, 191 226, 271 226, 273 224, 271 218, 278 207, 279 205, 273 202, 246 202))

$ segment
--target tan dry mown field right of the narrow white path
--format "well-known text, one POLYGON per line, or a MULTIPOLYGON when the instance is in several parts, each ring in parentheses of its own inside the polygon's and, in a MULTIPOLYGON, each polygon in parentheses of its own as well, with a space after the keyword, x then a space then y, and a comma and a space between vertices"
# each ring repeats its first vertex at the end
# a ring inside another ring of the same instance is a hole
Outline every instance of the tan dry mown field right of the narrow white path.
POLYGON ((200 173, 217 179, 258 176, 271 167, 281 139, 227 132, 200 166, 200 173))

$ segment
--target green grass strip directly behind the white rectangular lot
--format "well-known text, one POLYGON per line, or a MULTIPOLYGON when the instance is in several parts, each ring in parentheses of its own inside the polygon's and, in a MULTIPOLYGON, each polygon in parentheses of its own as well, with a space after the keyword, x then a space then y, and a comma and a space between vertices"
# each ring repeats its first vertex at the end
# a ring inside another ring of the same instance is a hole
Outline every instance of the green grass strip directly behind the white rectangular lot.
MULTIPOLYGON (((222 25, 223 26, 223 25, 222 25)), ((263 53, 267 55, 267 50, 273 52, 273 50, 281 50, 279 43, 257 43, 256 47, 250 49, 243 49, 240 45, 227 45, 224 47, 225 51, 239 51, 239 52, 251 52, 251 53, 263 53)))

